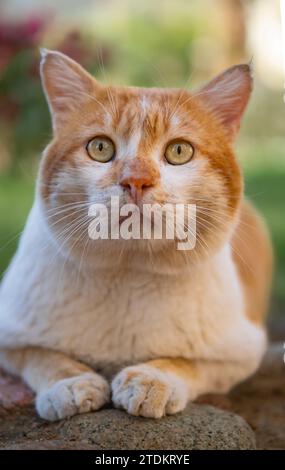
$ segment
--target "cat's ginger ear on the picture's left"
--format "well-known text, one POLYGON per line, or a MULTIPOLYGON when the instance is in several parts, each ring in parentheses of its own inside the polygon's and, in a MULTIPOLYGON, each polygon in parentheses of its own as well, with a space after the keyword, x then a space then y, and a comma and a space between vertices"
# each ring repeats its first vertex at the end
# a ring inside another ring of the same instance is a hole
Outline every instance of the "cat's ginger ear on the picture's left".
POLYGON ((54 131, 100 86, 77 62, 57 51, 41 49, 40 72, 54 131))

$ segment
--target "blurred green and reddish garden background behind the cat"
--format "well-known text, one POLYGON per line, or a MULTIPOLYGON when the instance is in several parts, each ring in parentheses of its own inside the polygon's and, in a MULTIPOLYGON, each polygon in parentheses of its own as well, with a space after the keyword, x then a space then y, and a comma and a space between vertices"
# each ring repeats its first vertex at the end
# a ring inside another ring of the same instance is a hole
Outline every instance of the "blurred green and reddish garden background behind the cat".
POLYGON ((246 193, 274 242, 271 312, 285 312, 285 104, 278 0, 0 0, 0 274, 31 207, 50 139, 39 46, 105 83, 196 87, 253 60, 255 89, 236 144, 246 193))

